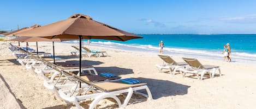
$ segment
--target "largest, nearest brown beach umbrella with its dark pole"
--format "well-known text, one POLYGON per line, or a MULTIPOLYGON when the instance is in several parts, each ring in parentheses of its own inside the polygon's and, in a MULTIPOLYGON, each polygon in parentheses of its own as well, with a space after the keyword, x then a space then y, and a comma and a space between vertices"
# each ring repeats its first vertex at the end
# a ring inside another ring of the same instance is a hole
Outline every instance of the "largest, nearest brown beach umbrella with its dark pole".
POLYGON ((28 30, 19 36, 45 37, 49 39, 79 39, 80 40, 80 69, 81 73, 81 42, 82 39, 103 39, 127 41, 142 38, 141 36, 111 27, 110 25, 92 20, 90 16, 75 14, 67 20, 58 21, 39 28, 28 30))

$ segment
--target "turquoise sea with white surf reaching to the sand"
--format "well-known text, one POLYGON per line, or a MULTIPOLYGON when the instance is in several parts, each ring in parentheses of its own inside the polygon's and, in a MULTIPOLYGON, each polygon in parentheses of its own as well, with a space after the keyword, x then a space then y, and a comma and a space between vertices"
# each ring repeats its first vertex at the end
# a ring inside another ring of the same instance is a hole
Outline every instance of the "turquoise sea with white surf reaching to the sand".
MULTIPOLYGON (((158 43, 164 42, 163 54, 170 56, 195 57, 223 60, 223 46, 231 47, 232 62, 256 63, 256 35, 219 34, 219 35, 144 35, 142 39, 128 41, 91 40, 91 45, 140 52, 158 53, 158 43)), ((67 43, 67 42, 66 42, 67 43)), ((68 43, 78 43, 69 41, 68 43)), ((87 43, 87 40, 84 40, 87 43)))

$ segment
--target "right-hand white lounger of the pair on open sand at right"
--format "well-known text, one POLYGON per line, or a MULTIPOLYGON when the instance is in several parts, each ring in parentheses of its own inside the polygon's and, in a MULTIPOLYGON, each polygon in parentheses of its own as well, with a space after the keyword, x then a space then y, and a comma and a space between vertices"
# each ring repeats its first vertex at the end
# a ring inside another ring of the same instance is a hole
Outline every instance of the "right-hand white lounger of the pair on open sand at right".
POLYGON ((182 57, 182 59, 186 61, 189 65, 189 67, 187 68, 180 69, 180 71, 183 72, 183 76, 185 76, 186 73, 193 73, 193 74, 197 74, 198 80, 203 80, 203 76, 206 73, 209 73, 210 78, 213 78, 216 70, 219 70, 219 76, 222 75, 221 68, 219 68, 219 66, 202 65, 197 59, 192 59, 192 58, 182 57), (201 73, 201 76, 199 76, 199 73, 201 73))

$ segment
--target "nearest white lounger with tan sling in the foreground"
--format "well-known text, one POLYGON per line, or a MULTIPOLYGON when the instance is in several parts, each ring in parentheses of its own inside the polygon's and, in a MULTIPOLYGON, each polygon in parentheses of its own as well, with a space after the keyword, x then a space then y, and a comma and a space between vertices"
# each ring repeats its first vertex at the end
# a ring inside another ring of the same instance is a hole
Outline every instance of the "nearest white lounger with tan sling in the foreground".
POLYGON ((59 96, 62 99, 64 99, 66 102, 73 102, 76 105, 76 107, 79 109, 82 108, 79 105, 79 101, 81 100, 94 99, 89 107, 89 109, 92 109, 97 105, 98 101, 105 98, 115 99, 119 107, 124 107, 128 104, 128 101, 132 97, 133 92, 144 95, 145 97, 148 97, 150 100, 152 99, 150 89, 147 87, 146 83, 130 85, 130 84, 124 84, 120 82, 120 80, 92 83, 74 74, 72 75, 71 78, 77 81, 81 81, 84 84, 88 84, 88 87, 83 88, 82 92, 81 92, 81 89, 79 88, 69 89, 69 90, 59 89, 58 91, 59 96), (146 89, 147 94, 136 92, 141 89, 146 89), (74 95, 75 91, 78 91, 79 94, 74 95), (89 94, 87 93, 88 91, 92 91, 93 93, 89 94), (117 94, 121 94, 121 93, 128 93, 123 103, 121 103, 120 99, 118 99, 116 96, 117 94))

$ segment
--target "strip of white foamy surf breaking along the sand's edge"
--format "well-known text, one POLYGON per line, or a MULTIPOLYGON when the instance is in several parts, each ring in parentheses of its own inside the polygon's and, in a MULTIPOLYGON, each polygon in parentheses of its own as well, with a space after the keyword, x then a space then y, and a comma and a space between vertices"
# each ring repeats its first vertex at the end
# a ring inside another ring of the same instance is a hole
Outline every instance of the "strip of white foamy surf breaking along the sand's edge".
MULTIPOLYGON (((57 42, 57 43, 72 43, 72 42, 57 42)), ((128 50, 131 52, 146 52, 146 53, 153 53, 158 54, 159 50, 158 47, 136 47, 136 46, 130 46, 129 44, 121 44, 121 43, 115 43, 115 44, 105 44, 104 42, 100 43, 91 43, 90 45, 87 44, 87 42, 84 42, 84 46, 97 46, 97 47, 106 47, 106 48, 114 48, 114 49, 122 49, 122 50, 128 50)), ((112 43, 112 42, 111 42, 112 43)), ((75 43, 77 44, 77 42, 75 43)), ((184 48, 164 48, 163 49, 164 54, 168 54, 170 56, 180 56, 180 57, 193 57, 198 59, 213 59, 213 60, 222 60, 223 61, 223 54, 222 50, 218 50, 218 52, 209 52, 205 50, 197 50, 197 49, 184 49, 184 48), (192 51, 192 52, 190 52, 192 51)), ((243 54, 243 53, 240 53, 243 54)), ((254 55, 254 54, 252 54, 254 55)), ((250 56, 237 56, 236 52, 231 53, 231 62, 241 62, 241 63, 254 63, 256 64, 256 58, 250 57, 250 56)))

